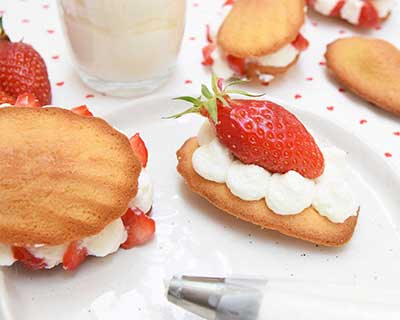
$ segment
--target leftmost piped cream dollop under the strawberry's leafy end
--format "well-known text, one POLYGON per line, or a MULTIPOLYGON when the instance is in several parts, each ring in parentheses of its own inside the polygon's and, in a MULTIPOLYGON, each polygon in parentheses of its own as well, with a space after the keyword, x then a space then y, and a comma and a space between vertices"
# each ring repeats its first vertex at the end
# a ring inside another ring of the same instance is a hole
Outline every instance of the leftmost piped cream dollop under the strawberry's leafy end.
POLYGON ((194 170, 203 178, 223 183, 226 181, 233 156, 217 139, 196 149, 192 163, 194 170))

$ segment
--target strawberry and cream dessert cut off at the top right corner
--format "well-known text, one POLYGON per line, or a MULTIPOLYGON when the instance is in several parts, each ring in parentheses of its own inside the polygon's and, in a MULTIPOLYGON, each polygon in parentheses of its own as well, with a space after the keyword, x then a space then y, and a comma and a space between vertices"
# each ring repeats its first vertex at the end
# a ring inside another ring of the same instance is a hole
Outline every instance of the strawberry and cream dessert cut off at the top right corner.
POLYGON ((361 28, 377 28, 389 17, 395 0, 308 0, 315 11, 361 28))

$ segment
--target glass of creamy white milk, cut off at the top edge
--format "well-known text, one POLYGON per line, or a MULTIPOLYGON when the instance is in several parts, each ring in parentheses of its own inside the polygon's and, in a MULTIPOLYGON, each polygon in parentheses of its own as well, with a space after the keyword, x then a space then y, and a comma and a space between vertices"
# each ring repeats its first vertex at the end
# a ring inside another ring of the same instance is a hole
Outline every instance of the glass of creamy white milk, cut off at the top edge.
POLYGON ((83 82, 114 96, 138 96, 174 70, 185 0, 58 0, 72 61, 83 82))

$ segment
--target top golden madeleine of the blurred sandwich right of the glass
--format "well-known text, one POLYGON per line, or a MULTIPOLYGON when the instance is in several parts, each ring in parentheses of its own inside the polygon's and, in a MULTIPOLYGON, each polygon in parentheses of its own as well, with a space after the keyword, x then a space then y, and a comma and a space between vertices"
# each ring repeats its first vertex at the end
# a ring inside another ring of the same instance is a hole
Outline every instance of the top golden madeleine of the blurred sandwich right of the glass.
POLYGON ((241 58, 273 53, 297 37, 304 0, 237 0, 218 32, 218 45, 241 58))

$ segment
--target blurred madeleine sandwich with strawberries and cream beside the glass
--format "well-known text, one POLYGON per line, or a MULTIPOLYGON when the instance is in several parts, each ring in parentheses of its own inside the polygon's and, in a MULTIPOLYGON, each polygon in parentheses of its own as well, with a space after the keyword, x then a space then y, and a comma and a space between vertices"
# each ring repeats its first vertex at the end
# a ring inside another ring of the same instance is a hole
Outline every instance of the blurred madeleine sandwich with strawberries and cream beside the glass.
POLYGON ((207 25, 203 65, 224 79, 268 83, 293 66, 308 41, 305 0, 227 1, 207 25))

